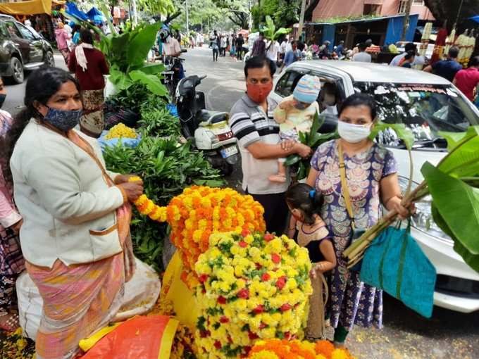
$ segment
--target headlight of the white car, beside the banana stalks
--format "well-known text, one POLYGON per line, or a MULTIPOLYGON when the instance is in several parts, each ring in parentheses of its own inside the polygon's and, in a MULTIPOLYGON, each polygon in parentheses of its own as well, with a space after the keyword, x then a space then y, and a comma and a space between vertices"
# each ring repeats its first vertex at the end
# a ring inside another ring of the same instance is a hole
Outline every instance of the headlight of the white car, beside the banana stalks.
MULTIPOLYGON (((408 181, 406 177, 399 176, 399 187, 401 187, 403 194, 406 192, 408 181)), ((418 187, 418 183, 413 182, 412 189, 415 187, 418 187)), ((442 232, 442 229, 440 229, 433 220, 433 214, 431 213, 432 200, 431 196, 426 196, 421 202, 416 203, 416 213, 411 217, 411 225, 433 237, 451 241, 451 237, 442 232)))

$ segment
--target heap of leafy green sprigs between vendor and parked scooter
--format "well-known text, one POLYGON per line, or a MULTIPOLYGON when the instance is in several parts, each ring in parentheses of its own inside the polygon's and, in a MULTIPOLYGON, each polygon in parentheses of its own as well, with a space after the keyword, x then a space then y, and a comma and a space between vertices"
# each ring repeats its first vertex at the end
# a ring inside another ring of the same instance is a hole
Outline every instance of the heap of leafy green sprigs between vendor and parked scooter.
MULTIPOLYGON (((142 129, 142 141, 135 149, 121 144, 107 147, 104 158, 108 170, 142 177, 145 194, 159 206, 166 205, 191 184, 204 182, 218 187, 225 184, 218 170, 211 167, 201 152, 194 151, 189 143, 179 144, 176 132, 171 133, 170 138, 152 137, 154 128, 142 129)), ((161 270, 167 225, 139 215, 135 210, 131 228, 135 255, 161 270)))

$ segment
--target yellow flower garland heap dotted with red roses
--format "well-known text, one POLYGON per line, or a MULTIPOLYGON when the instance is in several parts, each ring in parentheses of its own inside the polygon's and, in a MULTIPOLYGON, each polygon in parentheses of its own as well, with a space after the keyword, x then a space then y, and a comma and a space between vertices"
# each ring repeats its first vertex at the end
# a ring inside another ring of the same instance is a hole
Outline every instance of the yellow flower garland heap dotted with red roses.
POLYGON ((256 339, 297 336, 306 325, 310 269, 307 250, 286 236, 213 233, 195 266, 199 357, 244 357, 256 339))

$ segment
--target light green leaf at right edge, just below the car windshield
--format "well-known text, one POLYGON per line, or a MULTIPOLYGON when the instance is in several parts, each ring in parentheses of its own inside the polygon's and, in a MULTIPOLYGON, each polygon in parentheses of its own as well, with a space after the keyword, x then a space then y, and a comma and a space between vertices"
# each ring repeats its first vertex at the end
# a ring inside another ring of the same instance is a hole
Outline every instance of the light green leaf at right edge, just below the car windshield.
POLYGON ((452 150, 437 168, 454 177, 471 177, 479 174, 479 127, 470 127, 464 136, 451 137, 452 150))

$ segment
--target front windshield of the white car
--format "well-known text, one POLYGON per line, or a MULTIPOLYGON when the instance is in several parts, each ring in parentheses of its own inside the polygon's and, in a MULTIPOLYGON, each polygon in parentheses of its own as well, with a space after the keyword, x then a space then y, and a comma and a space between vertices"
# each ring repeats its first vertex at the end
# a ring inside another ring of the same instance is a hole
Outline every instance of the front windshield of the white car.
MULTIPOLYGON (((416 147, 445 148, 439 132, 464 132, 479 124, 477 113, 451 85, 355 82, 354 89, 374 96, 379 120, 409 127, 416 147)), ((383 133, 378 140, 401 145, 393 132, 383 133)))

